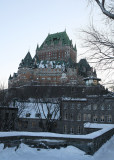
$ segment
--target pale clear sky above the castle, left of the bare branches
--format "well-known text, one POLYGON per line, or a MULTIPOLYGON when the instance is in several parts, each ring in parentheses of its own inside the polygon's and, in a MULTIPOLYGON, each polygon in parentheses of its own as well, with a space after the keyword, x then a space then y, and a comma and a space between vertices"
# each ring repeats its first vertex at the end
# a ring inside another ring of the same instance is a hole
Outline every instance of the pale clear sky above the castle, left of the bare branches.
POLYGON ((33 57, 48 33, 66 29, 79 55, 79 30, 89 24, 90 14, 87 0, 0 0, 0 81, 7 85, 26 53, 33 57))

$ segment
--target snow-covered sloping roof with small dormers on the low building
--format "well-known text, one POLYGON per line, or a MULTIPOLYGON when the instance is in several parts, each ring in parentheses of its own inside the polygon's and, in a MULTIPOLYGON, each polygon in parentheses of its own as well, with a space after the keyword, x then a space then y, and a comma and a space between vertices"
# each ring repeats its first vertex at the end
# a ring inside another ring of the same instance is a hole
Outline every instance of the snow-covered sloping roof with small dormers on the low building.
POLYGON ((60 117, 60 108, 58 103, 31 103, 17 102, 18 114, 20 118, 41 118, 46 119, 50 114, 51 119, 60 117))

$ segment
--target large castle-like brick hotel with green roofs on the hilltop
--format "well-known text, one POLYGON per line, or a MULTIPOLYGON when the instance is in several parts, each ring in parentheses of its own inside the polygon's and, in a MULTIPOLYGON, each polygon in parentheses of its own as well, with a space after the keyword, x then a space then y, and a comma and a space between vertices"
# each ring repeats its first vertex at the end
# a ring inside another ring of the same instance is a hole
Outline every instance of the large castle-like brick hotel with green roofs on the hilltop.
POLYGON ((18 72, 10 75, 8 87, 24 85, 75 85, 83 84, 84 78, 94 77, 96 71, 86 59, 77 63, 77 49, 66 31, 48 34, 42 45, 37 45, 35 56, 27 53, 18 67, 18 72))

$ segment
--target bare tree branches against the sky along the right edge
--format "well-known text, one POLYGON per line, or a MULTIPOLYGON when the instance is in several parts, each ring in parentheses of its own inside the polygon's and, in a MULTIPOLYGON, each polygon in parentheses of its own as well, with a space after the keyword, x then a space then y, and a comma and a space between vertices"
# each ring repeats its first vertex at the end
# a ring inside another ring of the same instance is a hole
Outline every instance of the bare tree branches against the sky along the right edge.
MULTIPOLYGON (((100 29, 96 25, 90 24, 86 29, 82 29, 83 46, 86 48, 84 56, 90 63, 103 72, 105 79, 114 79, 114 1, 109 0, 88 0, 89 3, 96 3, 103 14, 107 16, 108 23, 100 29), (106 29, 107 28, 107 29, 106 29)), ((94 23, 95 24, 95 23, 94 23)), ((103 23, 102 23, 103 24, 103 23)))

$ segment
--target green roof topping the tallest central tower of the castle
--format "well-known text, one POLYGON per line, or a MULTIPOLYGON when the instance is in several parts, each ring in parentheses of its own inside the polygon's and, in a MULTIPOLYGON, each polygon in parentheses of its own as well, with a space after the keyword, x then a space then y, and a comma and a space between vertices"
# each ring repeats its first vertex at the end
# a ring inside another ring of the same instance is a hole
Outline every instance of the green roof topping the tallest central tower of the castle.
POLYGON ((58 45, 59 43, 62 43, 62 45, 72 45, 72 40, 69 39, 66 31, 65 32, 59 32, 54 34, 48 34, 45 41, 42 43, 39 49, 42 49, 44 45, 50 46, 50 45, 58 45))

